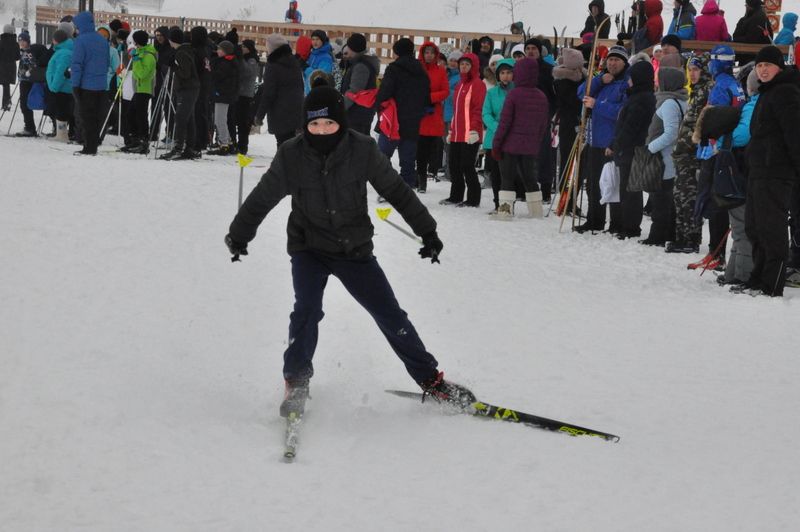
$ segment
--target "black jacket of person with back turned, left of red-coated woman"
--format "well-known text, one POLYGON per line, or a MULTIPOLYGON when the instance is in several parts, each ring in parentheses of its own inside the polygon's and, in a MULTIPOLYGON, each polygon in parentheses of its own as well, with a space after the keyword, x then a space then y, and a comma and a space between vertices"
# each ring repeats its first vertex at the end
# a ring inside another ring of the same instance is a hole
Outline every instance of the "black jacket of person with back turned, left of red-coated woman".
POLYGON ((425 109, 431 106, 431 81, 419 61, 411 56, 398 57, 386 67, 378 90, 376 105, 394 98, 400 138, 419 138, 419 124, 425 109))

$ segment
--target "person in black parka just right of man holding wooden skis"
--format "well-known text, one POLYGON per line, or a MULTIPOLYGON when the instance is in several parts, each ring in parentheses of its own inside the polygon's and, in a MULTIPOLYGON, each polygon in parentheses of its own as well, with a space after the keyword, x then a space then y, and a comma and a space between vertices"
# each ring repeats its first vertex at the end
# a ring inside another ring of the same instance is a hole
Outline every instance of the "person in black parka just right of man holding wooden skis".
POLYGON ((650 122, 656 112, 655 71, 647 61, 628 69, 628 99, 619 112, 614 140, 606 155, 614 156, 619 167, 619 203, 611 204, 611 225, 621 230, 617 238, 635 238, 642 234, 643 198, 641 192, 628 192, 633 153, 644 146, 650 122))

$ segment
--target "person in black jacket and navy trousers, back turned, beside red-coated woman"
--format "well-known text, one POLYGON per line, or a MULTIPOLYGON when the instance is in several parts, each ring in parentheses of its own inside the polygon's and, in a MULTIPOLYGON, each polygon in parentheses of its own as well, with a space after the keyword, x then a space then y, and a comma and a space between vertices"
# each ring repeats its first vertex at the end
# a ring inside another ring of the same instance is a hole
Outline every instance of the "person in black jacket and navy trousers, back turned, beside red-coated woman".
POLYGON ((400 152, 400 175, 414 188, 417 185, 417 139, 419 124, 426 112, 433 112, 430 102, 431 82, 425 69, 414 58, 411 39, 399 39, 392 47, 397 59, 386 68, 378 90, 376 105, 387 100, 397 104, 400 139, 393 140, 381 133, 378 147, 391 159, 394 151, 400 152))

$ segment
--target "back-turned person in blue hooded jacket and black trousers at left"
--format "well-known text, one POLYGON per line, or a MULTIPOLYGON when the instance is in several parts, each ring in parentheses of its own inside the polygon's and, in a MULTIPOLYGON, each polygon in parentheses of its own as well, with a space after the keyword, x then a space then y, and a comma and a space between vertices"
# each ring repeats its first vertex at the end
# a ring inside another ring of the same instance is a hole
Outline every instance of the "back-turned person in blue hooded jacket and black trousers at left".
POLYGON ((78 38, 72 50, 70 79, 83 126, 83 149, 76 154, 95 155, 108 100, 108 41, 95 31, 90 12, 78 13, 73 23, 78 38))

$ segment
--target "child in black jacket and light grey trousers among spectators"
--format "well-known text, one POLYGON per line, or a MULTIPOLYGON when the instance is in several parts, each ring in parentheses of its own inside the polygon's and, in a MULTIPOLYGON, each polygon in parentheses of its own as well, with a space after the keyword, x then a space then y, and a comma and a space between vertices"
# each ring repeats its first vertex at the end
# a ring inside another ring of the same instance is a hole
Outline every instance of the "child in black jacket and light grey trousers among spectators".
POLYGON ((214 125, 217 128, 219 148, 209 150, 209 155, 231 155, 236 148, 231 144, 228 132, 228 106, 239 98, 239 61, 234 55, 230 41, 222 41, 217 49, 217 57, 211 62, 213 81, 214 125))

